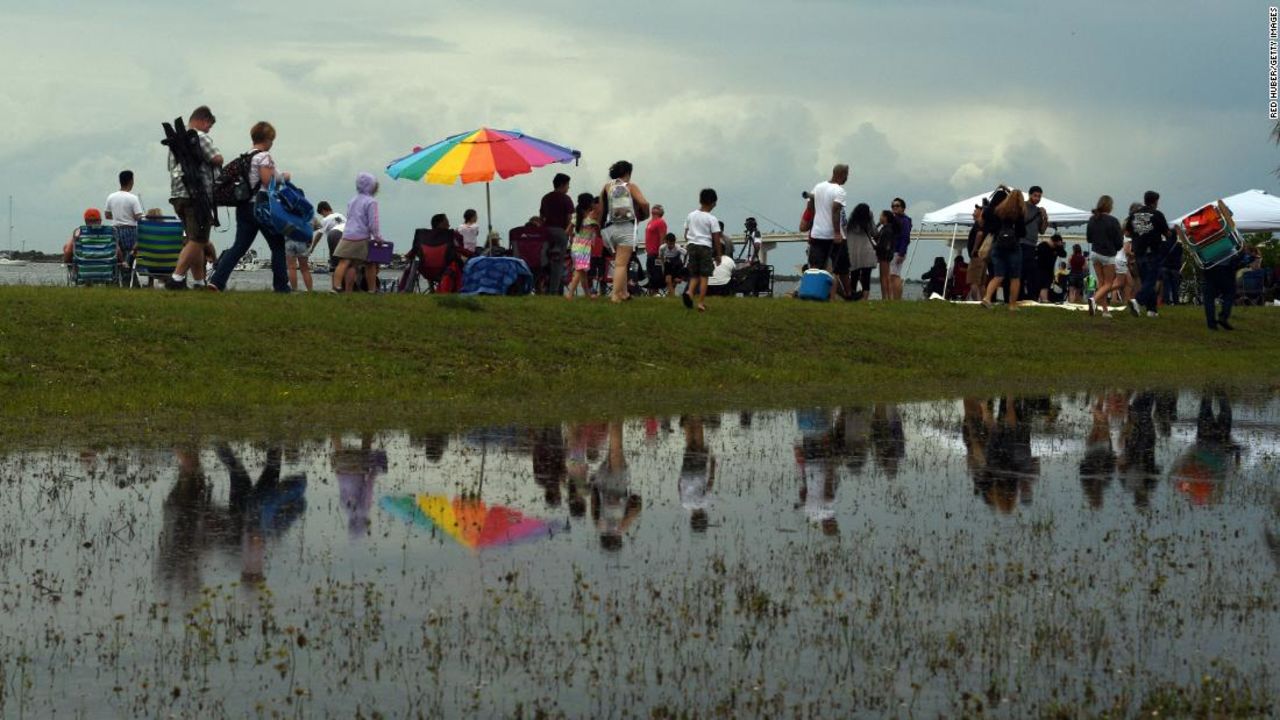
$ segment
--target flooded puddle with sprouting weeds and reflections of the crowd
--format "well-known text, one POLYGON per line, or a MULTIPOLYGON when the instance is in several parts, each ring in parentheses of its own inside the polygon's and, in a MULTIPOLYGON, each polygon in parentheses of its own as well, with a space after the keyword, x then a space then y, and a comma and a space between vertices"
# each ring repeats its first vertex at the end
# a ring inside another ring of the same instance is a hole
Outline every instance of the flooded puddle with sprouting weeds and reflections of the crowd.
POLYGON ((0 715, 1266 715, 1277 429, 1115 392, 12 454, 0 715))

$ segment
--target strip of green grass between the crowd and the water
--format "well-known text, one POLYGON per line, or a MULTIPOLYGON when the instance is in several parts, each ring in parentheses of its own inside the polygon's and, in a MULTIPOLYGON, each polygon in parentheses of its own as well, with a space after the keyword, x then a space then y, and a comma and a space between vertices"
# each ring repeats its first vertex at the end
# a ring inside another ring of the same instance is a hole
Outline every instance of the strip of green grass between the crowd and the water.
POLYGON ((1115 386, 1280 382, 1280 310, 1210 333, 933 302, 0 288, 0 439, 164 442, 1115 386))

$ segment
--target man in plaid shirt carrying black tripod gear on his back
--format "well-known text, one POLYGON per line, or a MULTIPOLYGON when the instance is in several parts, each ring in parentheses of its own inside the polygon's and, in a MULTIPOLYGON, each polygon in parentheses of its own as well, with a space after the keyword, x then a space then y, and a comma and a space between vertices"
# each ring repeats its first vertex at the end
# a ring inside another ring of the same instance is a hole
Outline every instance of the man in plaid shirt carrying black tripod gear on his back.
MULTIPOLYGON (((205 193, 214 188, 214 168, 223 167, 223 154, 218 151, 212 138, 209 137, 209 131, 214 129, 215 122, 218 120, 207 105, 196 108, 187 118, 187 127, 196 131, 196 138, 200 141, 202 160, 201 177, 189 179, 204 186, 205 193)), ((201 218, 196 213, 196 204, 187 190, 188 178, 183 178, 182 164, 178 163, 172 151, 169 152, 169 204, 173 205, 174 214, 182 220, 184 241, 173 277, 165 281, 164 286, 166 290, 187 290, 187 272, 189 270, 192 281, 200 287, 205 284, 205 255, 212 254, 209 242, 210 219, 201 218)))

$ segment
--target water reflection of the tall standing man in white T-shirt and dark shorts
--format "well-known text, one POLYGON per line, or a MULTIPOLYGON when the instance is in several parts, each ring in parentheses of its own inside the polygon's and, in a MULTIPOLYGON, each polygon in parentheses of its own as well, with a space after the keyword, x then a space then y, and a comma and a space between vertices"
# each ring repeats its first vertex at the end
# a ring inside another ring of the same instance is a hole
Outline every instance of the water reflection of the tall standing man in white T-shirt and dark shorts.
POLYGON ((796 469, 800 471, 800 502, 809 523, 822 528, 826 536, 840 534, 836 518, 836 468, 845 456, 844 420, 837 427, 828 410, 800 410, 796 413, 800 442, 795 447, 796 469))

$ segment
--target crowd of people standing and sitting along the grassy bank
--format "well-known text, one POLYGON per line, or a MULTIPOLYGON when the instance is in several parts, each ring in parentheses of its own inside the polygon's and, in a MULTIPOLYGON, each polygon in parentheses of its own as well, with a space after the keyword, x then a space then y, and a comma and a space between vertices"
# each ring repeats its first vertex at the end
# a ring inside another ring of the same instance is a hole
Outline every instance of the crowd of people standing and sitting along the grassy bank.
MULTIPOLYGON (((275 128, 266 122, 253 124, 251 147, 224 163, 210 136, 215 122, 207 106, 197 108, 188 118, 187 127, 196 137, 195 170, 170 151, 170 205, 183 225, 184 245, 165 287, 225 290, 232 270, 261 234, 270 249, 271 284, 276 292, 300 290, 300 283, 307 291, 314 290, 308 258, 320 243, 329 250, 330 290, 376 292, 379 264, 369 255, 370 245, 383 241, 376 178, 370 173, 357 176, 356 195, 346 214, 335 213, 326 201, 320 202, 310 243, 285 240, 278 228, 264 223, 253 208, 259 191, 273 178, 291 181, 289 173, 276 169, 271 155, 275 128), (211 218, 201 210, 207 202, 202 205, 195 196, 210 192, 220 178, 230 174, 243 176, 248 192, 246 200, 234 205, 234 242, 219 255, 210 241, 211 218), (207 277, 206 266, 211 269, 207 277)), ((699 192, 696 209, 685 218, 677 236, 668 232, 664 208, 649 201, 634 182, 632 173, 631 163, 614 163, 599 192, 580 193, 576 201, 570 193, 570 176, 558 173, 538 214, 511 229, 507 246, 495 232, 480 242, 477 214, 472 209, 463 213, 463 222, 457 228, 447 215, 436 214, 429 229, 417 231, 404 258, 421 254, 420 241, 442 242, 444 238, 453 246, 451 261, 460 268, 477 255, 518 256, 532 273, 532 291, 538 293, 568 299, 579 293, 607 296, 613 302, 625 302, 637 293, 678 296, 685 306, 699 310, 707 309, 707 296, 727 295, 735 273, 744 265, 762 264, 760 234, 754 219, 746 223, 745 263, 735 263, 727 250, 724 223, 713 214, 718 202, 714 188, 699 192)), ((845 300, 872 297, 872 272, 877 270, 879 297, 901 300, 913 232, 906 201, 895 197, 890 208, 878 214, 867 202, 850 208, 844 187, 849 177, 849 165, 838 164, 829 179, 804 193, 806 205, 800 229, 808 241, 805 269, 831 272, 835 279, 831 299, 845 300)), ((136 251, 138 222, 160 210, 143 211, 133 193, 132 172, 122 172, 119 181, 119 190, 106 200, 105 219, 111 223, 118 258, 124 264, 136 251)), ((1129 208, 1123 223, 1114 215, 1114 200, 1106 195, 1100 197, 1085 229, 1088 251, 1074 245, 1070 254, 1059 233, 1046 236, 1050 218, 1041 208, 1042 199, 1039 186, 1030 186, 1025 195, 1000 186, 988 200, 975 205, 966 243, 968 259, 965 254, 956 256, 950 269, 945 259, 936 259, 920 277, 925 297, 970 300, 993 307, 1002 296, 1011 311, 1028 300, 1087 304, 1091 314, 1103 318, 1110 318, 1116 305, 1134 316, 1156 318, 1161 305, 1180 301, 1183 247, 1158 209, 1160 193, 1148 191, 1142 202, 1129 208)), ((84 213, 88 227, 101 225, 102 220, 97 209, 84 213)), ((73 234, 64 247, 68 261, 76 238, 73 234)), ((1245 263, 1257 259, 1257 252, 1245 255, 1245 263)), ((1235 263, 1204 273, 1210 328, 1233 327, 1230 316, 1239 266, 1235 263), (1221 311, 1216 310, 1213 300, 1221 300, 1221 311)))

